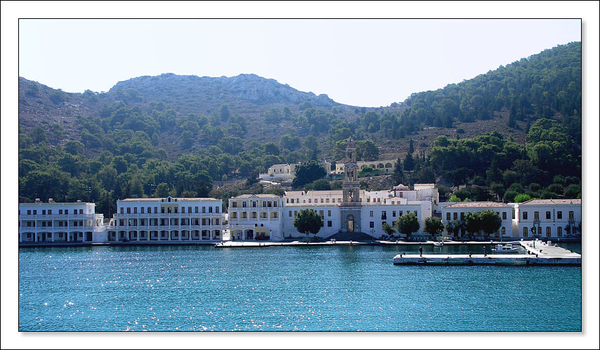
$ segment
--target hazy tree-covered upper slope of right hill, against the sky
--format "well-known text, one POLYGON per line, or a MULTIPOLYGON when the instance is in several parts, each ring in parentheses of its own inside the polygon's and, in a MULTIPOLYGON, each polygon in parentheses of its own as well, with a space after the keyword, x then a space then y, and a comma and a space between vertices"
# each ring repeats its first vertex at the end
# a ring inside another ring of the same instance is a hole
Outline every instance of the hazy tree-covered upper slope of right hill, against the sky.
POLYGON ((581 115, 581 43, 556 46, 506 67, 404 102, 405 119, 451 127, 454 121, 490 119, 506 110, 516 120, 581 115))

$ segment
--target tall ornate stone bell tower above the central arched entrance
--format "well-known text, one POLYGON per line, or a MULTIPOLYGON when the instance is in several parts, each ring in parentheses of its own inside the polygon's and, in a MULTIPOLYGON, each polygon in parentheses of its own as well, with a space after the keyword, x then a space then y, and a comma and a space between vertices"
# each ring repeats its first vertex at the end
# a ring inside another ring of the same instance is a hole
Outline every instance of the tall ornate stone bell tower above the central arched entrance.
POLYGON ((356 149, 352 137, 346 144, 346 162, 344 163, 344 181, 341 182, 343 200, 340 203, 341 231, 360 232, 360 184, 358 183, 358 165, 356 149))

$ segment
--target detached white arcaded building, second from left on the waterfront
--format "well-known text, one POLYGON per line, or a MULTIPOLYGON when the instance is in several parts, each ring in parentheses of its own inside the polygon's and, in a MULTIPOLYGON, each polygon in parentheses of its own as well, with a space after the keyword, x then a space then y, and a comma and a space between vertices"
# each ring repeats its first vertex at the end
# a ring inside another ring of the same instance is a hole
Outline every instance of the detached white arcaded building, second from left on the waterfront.
POLYGON ((117 201, 117 214, 105 241, 220 241, 226 227, 221 199, 127 198, 117 201))

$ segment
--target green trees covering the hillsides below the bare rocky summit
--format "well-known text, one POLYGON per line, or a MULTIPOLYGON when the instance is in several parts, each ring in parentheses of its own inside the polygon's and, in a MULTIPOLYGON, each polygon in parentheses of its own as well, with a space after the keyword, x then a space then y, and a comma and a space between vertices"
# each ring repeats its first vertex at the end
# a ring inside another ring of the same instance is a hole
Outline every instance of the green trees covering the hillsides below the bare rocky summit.
MULTIPOLYGON (((213 180, 254 181, 275 163, 342 159, 351 135, 358 160, 373 160, 380 156, 374 135, 398 140, 425 126, 450 128, 455 121, 485 120, 499 111, 509 114, 509 127, 528 123, 525 145, 500 133, 440 137, 425 154, 415 152, 411 139, 408 154, 398 158, 394 184, 467 184, 454 194, 461 201, 578 198, 580 52, 581 43, 558 46, 462 83, 415 93, 393 108, 357 107, 352 118, 337 107, 308 101, 269 106, 256 113, 260 121, 291 127, 267 142, 248 140, 249 119, 234 105, 219 102, 205 114, 181 113, 166 97, 145 102, 134 88, 117 90, 116 102, 88 90, 82 96, 98 103, 93 116, 79 117, 74 125, 52 123, 27 132, 20 127, 19 200, 96 201, 98 211, 109 216, 119 198, 205 196, 213 180)), ((41 95, 37 85, 25 92, 41 95)), ((58 106, 71 95, 55 90, 48 98, 58 106)), ((325 188, 314 182, 324 176, 294 185, 325 188)))

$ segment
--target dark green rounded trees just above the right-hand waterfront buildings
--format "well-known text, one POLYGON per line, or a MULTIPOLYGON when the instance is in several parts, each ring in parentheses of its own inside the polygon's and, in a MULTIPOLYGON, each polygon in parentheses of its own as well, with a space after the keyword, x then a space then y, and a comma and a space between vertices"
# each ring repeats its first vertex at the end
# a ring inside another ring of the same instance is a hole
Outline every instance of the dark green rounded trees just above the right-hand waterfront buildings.
POLYGON ((471 184, 455 193, 461 199, 514 201, 518 194, 577 198, 581 194, 581 147, 569 135, 557 121, 538 119, 524 147, 496 132, 472 139, 439 137, 433 142, 429 163, 434 173, 453 185, 471 184), (573 185, 569 191, 566 179, 573 185))

